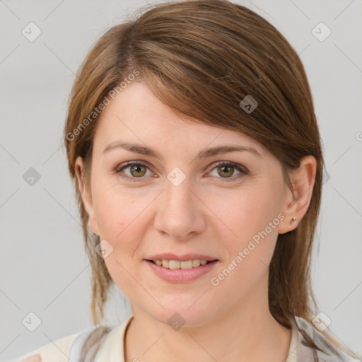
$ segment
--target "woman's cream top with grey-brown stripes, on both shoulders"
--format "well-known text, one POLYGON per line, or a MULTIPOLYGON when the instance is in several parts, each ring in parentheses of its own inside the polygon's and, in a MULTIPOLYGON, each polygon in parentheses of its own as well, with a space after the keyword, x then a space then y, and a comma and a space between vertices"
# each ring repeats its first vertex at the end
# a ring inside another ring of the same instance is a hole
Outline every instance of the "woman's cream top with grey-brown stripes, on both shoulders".
MULTIPOLYGON (((95 355, 95 362, 124 362, 124 335, 127 330, 129 322, 131 322, 133 315, 128 317, 127 320, 122 322, 116 327, 90 327, 83 329, 83 331, 76 334, 71 334, 67 337, 57 339, 41 346, 39 349, 25 354, 12 362, 78 362, 81 349, 87 343, 91 346, 90 354, 95 355), (99 343, 91 343, 91 340, 99 341, 99 343), (121 342, 121 343, 120 343, 121 342), (28 358, 28 359, 27 359, 28 358)), ((303 318, 292 316, 290 317, 291 329, 291 344, 289 345, 288 358, 286 362, 357 362, 361 361, 357 358, 348 356, 343 351, 334 347, 334 345, 320 332, 317 331, 312 325, 303 318), (328 354, 321 351, 315 351, 308 346, 305 337, 300 333, 302 328, 308 336, 313 336, 313 341, 322 346, 323 350, 328 354), (316 352, 317 358, 313 359, 313 351, 316 352)), ((90 359, 83 360, 85 362, 91 361, 90 359)))

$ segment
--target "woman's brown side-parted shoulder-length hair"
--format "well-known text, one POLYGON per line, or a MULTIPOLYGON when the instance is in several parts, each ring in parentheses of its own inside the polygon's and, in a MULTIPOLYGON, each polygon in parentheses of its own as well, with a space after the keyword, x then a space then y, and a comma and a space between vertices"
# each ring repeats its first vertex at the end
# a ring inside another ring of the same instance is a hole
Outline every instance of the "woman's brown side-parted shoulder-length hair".
MULTIPOLYGON (((71 90, 64 144, 91 261, 93 323, 104 317, 112 278, 95 252, 99 238, 87 228, 74 163, 78 156, 83 158, 84 182, 91 190, 98 109, 132 81, 146 82, 177 114, 259 141, 280 161, 291 189, 289 172, 298 168, 303 156, 315 157, 308 211, 294 230, 278 235, 269 265, 271 315, 288 328, 290 314, 311 322, 317 310, 311 252, 324 160, 305 69, 286 38, 249 8, 226 0, 190 0, 157 4, 107 30, 86 56, 71 90), (240 106, 247 95, 258 103, 252 112, 240 106)), ((312 340, 310 344, 317 348, 312 340)))

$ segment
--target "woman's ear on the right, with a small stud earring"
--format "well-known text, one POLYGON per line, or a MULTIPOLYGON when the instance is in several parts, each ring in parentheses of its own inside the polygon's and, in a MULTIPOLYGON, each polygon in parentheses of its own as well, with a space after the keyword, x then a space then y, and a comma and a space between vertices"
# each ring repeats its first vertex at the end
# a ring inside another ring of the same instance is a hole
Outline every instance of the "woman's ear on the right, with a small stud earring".
POLYGON ((283 209, 281 210, 284 220, 279 223, 279 234, 294 230, 308 211, 313 194, 316 169, 317 160, 314 156, 308 155, 300 160, 300 165, 296 170, 291 171, 293 189, 291 190, 286 186, 283 209), (293 217, 296 217, 296 221, 292 220, 293 217))

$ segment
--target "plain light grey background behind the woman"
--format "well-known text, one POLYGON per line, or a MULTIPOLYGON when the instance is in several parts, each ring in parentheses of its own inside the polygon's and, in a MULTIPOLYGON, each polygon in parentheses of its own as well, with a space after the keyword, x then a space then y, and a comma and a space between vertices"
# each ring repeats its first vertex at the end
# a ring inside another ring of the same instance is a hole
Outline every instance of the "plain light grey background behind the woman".
MULTIPOLYGON (((235 2, 273 23, 305 65, 330 175, 313 284, 329 329, 362 356, 361 1, 235 2), (322 42, 312 33, 320 22, 332 30, 322 42)), ((145 5, 0 1, 0 361, 91 325, 91 268, 62 147, 66 102, 93 42, 145 5), (30 22, 42 31, 33 42, 22 34, 30 22), (29 168, 40 174, 33 186, 29 168), (34 332, 22 324, 30 312, 41 320, 34 332)), ((115 290, 107 322, 129 313, 115 290)))

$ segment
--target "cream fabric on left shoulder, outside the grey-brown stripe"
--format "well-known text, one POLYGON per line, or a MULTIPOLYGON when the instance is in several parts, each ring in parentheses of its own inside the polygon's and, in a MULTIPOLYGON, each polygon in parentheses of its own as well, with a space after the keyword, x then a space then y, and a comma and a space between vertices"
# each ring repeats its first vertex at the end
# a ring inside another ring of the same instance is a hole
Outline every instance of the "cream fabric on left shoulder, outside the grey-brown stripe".
MULTIPOLYGON (((93 327, 91 328, 93 329, 93 327)), ((75 339, 91 328, 44 344, 11 362, 69 362, 69 351, 75 339)))

